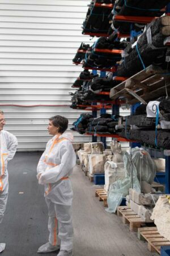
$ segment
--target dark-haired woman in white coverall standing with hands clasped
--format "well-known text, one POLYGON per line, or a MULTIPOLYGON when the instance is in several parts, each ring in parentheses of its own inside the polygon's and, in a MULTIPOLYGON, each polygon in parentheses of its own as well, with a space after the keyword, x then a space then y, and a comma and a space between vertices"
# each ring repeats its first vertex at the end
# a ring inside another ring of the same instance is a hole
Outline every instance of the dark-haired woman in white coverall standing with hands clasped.
POLYGON ((73 224, 70 175, 76 163, 73 135, 65 133, 68 119, 56 115, 49 119, 49 134, 54 137, 46 144, 37 166, 39 184, 45 185, 48 207, 49 241, 37 253, 59 250, 58 256, 73 255, 73 224))

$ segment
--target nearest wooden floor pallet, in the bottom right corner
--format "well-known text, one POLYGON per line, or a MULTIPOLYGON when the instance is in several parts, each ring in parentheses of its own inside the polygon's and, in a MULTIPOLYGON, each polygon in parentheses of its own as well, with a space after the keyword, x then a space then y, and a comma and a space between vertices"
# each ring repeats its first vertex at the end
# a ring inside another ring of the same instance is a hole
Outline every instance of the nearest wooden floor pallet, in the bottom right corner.
POLYGON ((139 240, 147 241, 148 250, 151 252, 157 252, 160 254, 160 246, 170 245, 170 241, 164 238, 156 227, 152 228, 139 228, 138 229, 139 240))

